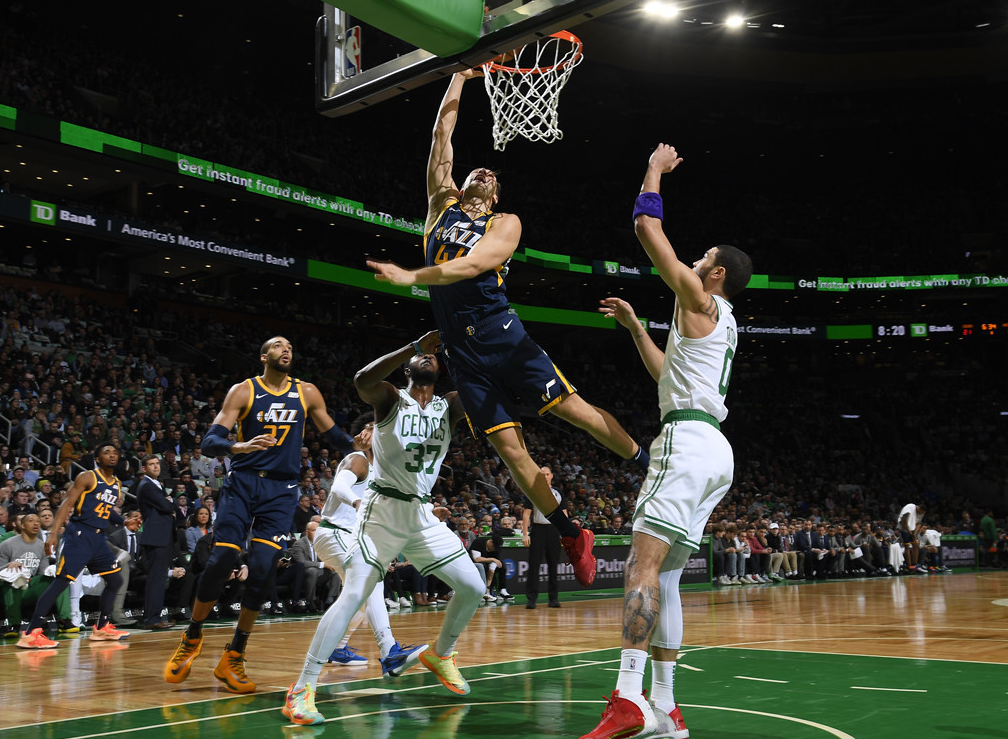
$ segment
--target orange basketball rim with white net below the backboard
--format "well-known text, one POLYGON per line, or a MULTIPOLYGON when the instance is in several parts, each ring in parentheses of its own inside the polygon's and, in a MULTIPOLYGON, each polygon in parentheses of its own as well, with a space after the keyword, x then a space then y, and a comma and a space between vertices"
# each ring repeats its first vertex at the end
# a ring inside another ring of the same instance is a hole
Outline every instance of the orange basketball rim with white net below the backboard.
POLYGON ((556 106, 583 49, 578 36, 557 31, 483 65, 495 149, 503 151, 519 135, 545 143, 563 138, 556 106))

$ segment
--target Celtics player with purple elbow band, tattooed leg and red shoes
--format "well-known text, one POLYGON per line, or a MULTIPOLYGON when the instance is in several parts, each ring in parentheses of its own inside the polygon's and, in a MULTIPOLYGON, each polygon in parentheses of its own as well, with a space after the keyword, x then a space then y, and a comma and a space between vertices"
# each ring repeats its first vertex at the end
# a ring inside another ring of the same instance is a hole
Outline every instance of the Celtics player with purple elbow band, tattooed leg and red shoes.
POLYGON ((634 206, 637 238, 675 293, 665 351, 624 300, 608 297, 600 309, 630 331, 657 381, 662 429, 651 444, 650 469, 634 510, 616 690, 599 725, 582 739, 689 736, 672 693, 682 644, 679 578, 735 472, 732 447, 720 425, 728 415, 725 394, 738 342, 728 298, 749 282, 752 262, 734 246, 709 249, 692 269, 678 260, 662 231, 658 187, 661 175, 681 161, 675 149, 659 144, 634 206), (650 702, 642 696, 649 645, 650 702))

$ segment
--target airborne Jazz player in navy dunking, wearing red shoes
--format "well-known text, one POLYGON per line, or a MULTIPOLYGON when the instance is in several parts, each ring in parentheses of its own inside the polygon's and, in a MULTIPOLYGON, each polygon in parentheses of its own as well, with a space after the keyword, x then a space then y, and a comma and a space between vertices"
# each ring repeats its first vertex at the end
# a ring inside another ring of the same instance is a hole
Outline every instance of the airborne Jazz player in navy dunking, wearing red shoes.
POLYGON ((474 433, 487 436, 515 482, 550 523, 583 585, 595 580, 595 534, 580 529, 559 507, 539 466, 525 449, 519 406, 524 401, 591 434, 624 459, 647 467, 647 453, 608 412, 587 403, 525 332, 504 294, 505 265, 518 248, 518 217, 494 213, 495 172, 474 169, 460 189, 452 177, 452 134, 459 99, 473 71, 455 75, 442 100, 427 162, 426 266, 403 269, 369 261, 377 278, 430 285, 434 320, 474 433))

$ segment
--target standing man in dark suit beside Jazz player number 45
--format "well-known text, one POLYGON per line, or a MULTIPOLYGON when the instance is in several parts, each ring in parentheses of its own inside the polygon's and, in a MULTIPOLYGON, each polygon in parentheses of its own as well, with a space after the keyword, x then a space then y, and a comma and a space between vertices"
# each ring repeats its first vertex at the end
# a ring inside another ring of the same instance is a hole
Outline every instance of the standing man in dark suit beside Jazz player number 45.
MULTIPOLYGON (((143 625, 153 630, 174 626, 161 618, 164 588, 175 543, 175 504, 158 481, 161 461, 155 455, 143 458, 143 476, 136 486, 137 503, 143 515, 142 559, 147 571, 143 597, 143 625)), ((185 607, 186 604, 182 604, 185 607)))

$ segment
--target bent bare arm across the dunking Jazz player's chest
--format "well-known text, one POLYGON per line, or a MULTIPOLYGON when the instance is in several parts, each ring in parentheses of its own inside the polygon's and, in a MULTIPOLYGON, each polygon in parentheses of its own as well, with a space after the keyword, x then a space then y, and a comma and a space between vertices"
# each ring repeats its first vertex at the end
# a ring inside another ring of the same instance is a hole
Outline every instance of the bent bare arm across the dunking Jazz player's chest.
POLYGON ((465 256, 419 269, 404 269, 392 262, 368 260, 375 279, 396 285, 447 285, 471 279, 501 266, 518 248, 521 221, 512 213, 498 214, 487 233, 465 256))

